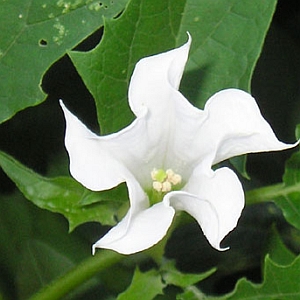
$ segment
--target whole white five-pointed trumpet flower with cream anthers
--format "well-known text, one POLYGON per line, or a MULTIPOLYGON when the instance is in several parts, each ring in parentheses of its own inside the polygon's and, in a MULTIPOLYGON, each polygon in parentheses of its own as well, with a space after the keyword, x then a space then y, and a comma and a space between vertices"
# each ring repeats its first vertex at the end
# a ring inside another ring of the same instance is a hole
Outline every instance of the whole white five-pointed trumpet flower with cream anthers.
MULTIPOLYGON (((141 59, 132 74, 128 99, 136 119, 106 136, 91 132, 61 102, 71 175, 86 188, 103 191, 125 182, 130 208, 93 245, 132 254, 158 243, 176 212, 199 223, 217 250, 236 227, 244 207, 237 175, 212 166, 233 156, 283 150, 248 93, 226 89, 203 110, 178 91, 191 37, 174 50, 141 59)), ((113 88, 113 87, 112 87, 113 88)))

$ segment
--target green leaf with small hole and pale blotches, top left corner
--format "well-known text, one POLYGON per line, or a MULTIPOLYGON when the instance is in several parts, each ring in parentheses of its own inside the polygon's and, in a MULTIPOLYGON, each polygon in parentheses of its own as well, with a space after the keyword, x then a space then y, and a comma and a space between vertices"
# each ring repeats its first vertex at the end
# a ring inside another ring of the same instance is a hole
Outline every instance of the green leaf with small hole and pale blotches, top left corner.
POLYGON ((0 123, 45 99, 45 71, 127 0, 10 0, 0 9, 0 123))

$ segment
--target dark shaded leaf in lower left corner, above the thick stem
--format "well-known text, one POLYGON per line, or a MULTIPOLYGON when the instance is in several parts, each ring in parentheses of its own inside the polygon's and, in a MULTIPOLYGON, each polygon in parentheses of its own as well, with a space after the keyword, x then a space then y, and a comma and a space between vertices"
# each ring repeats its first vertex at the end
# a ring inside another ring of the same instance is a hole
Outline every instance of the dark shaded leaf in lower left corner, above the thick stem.
POLYGON ((28 299, 90 253, 86 237, 69 234, 62 216, 39 209, 19 191, 1 195, 0 228, 0 286, 11 293, 4 299, 28 299))

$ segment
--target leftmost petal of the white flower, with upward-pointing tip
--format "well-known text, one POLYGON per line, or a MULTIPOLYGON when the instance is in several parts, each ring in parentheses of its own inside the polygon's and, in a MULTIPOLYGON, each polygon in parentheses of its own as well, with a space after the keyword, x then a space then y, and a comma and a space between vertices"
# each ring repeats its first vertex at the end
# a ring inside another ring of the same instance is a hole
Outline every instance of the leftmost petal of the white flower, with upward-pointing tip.
MULTIPOLYGON (((118 133, 100 137, 74 116, 62 101, 60 105, 66 119, 65 145, 70 157, 70 172, 77 181, 91 190, 100 191, 128 182, 135 174, 142 177, 140 166, 151 155, 143 135, 145 116, 137 118, 118 133)), ((144 177, 150 177, 149 174, 150 170, 146 169, 144 177)))

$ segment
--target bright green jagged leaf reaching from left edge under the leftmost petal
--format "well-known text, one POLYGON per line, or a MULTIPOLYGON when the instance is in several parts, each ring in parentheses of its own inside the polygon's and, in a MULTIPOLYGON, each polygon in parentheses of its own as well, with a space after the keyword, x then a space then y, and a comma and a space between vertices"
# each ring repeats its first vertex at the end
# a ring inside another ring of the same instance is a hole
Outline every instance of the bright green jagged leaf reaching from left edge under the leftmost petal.
POLYGON ((70 230, 88 221, 114 225, 127 199, 125 185, 112 191, 91 192, 69 177, 40 176, 3 152, 0 152, 0 166, 28 200, 40 208, 63 214, 70 230))

